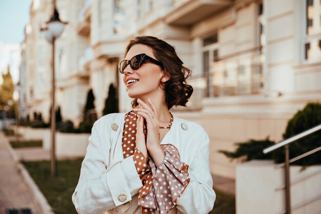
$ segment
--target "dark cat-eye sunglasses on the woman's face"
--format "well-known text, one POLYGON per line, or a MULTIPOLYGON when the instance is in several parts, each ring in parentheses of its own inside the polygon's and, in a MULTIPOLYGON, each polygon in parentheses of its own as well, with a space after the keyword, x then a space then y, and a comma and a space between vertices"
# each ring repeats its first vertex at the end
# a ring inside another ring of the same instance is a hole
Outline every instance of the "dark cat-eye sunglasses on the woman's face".
POLYGON ((130 65, 131 69, 136 70, 138 69, 145 61, 148 61, 150 63, 154 63, 156 65, 159 65, 163 68, 163 64, 152 57, 146 55, 145 53, 141 53, 138 55, 135 55, 130 60, 123 60, 119 63, 118 70, 121 73, 124 73, 125 68, 130 65))

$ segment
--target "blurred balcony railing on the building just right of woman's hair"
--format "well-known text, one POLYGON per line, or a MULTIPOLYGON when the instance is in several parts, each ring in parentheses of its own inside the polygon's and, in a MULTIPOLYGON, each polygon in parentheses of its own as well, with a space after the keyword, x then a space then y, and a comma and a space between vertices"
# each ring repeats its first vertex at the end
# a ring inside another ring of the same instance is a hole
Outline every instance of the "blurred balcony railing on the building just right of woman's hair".
POLYGON ((214 59, 211 71, 193 75, 189 84, 203 97, 259 94, 264 87, 261 47, 214 59))

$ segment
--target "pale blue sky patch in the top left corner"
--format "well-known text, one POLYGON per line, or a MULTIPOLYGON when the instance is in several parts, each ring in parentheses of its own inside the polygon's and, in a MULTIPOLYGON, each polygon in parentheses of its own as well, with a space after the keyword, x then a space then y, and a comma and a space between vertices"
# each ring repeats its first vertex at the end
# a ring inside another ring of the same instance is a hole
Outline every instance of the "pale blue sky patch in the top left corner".
POLYGON ((32 0, 0 0, 0 42, 19 44, 30 19, 32 0))

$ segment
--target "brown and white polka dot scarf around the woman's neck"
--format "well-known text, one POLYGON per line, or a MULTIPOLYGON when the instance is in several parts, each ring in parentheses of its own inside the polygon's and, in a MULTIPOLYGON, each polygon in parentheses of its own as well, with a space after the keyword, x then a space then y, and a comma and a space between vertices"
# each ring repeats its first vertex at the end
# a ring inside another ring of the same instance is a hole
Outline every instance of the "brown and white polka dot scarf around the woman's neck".
MULTIPOLYGON (((164 162, 156 167, 149 157, 148 163, 141 151, 135 148, 137 114, 125 115, 123 131, 123 155, 133 160, 143 186, 139 189, 138 204, 142 213, 167 213, 176 206, 189 183, 188 165, 180 161, 179 152, 172 144, 160 145, 165 151, 164 162)), ((172 123, 172 121, 171 121, 172 123)))

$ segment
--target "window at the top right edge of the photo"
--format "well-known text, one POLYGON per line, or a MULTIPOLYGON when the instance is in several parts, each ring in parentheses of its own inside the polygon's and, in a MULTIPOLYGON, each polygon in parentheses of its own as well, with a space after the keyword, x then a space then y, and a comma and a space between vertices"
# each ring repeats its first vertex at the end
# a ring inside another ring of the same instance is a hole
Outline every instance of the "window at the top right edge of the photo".
POLYGON ((318 62, 321 60, 321 5, 319 1, 306 0, 306 30, 304 36, 304 61, 318 62))

